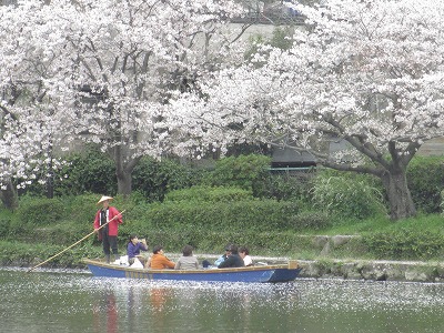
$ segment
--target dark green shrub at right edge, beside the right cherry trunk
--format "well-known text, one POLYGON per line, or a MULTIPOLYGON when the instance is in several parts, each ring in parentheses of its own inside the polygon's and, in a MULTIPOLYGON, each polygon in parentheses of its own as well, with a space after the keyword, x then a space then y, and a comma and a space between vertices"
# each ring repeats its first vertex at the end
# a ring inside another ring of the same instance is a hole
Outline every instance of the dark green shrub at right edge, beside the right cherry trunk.
POLYGON ((444 158, 415 157, 407 168, 408 189, 417 210, 438 213, 444 189, 444 158))

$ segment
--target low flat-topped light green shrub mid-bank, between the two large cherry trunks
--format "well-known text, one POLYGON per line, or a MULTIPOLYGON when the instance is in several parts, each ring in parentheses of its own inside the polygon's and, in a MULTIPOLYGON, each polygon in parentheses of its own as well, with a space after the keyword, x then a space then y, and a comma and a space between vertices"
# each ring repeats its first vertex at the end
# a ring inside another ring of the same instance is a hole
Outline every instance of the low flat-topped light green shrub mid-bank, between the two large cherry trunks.
POLYGON ((190 189, 176 190, 165 195, 165 201, 201 201, 201 202, 219 202, 219 201, 241 201, 252 200, 251 190, 239 188, 223 186, 192 186, 190 189))

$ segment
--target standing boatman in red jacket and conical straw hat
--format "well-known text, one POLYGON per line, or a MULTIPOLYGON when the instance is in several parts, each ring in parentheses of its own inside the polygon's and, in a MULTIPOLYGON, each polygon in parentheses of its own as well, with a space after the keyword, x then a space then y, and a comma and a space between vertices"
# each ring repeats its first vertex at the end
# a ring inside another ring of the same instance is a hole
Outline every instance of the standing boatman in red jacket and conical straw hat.
POLYGON ((99 233, 99 241, 102 241, 107 262, 110 263, 112 251, 115 260, 114 263, 120 263, 118 251, 118 231, 119 224, 122 223, 122 215, 114 206, 110 205, 111 200, 112 196, 102 196, 97 203, 102 204, 103 206, 95 214, 94 231, 99 233), (107 224, 107 222, 109 223, 107 224), (102 225, 104 226, 100 229, 102 225))

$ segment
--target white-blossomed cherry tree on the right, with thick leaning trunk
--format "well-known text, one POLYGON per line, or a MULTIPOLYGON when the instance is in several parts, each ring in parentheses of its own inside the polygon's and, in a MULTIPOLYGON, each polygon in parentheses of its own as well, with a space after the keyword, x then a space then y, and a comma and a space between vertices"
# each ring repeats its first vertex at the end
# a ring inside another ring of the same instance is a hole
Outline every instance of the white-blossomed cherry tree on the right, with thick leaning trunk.
POLYGON ((424 141, 444 135, 444 2, 295 9, 306 24, 289 50, 262 48, 172 103, 174 122, 190 130, 176 149, 260 141, 310 151, 320 164, 380 178, 393 220, 415 215, 407 165, 424 141))

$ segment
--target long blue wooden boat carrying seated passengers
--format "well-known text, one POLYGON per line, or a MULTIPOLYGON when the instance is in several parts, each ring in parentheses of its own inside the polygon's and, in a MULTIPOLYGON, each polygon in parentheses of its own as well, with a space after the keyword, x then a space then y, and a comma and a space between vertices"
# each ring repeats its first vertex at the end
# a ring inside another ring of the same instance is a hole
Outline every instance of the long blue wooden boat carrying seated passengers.
POLYGON ((296 279, 302 270, 294 260, 285 264, 192 271, 134 269, 89 259, 83 262, 94 276, 201 282, 289 282, 296 279))

